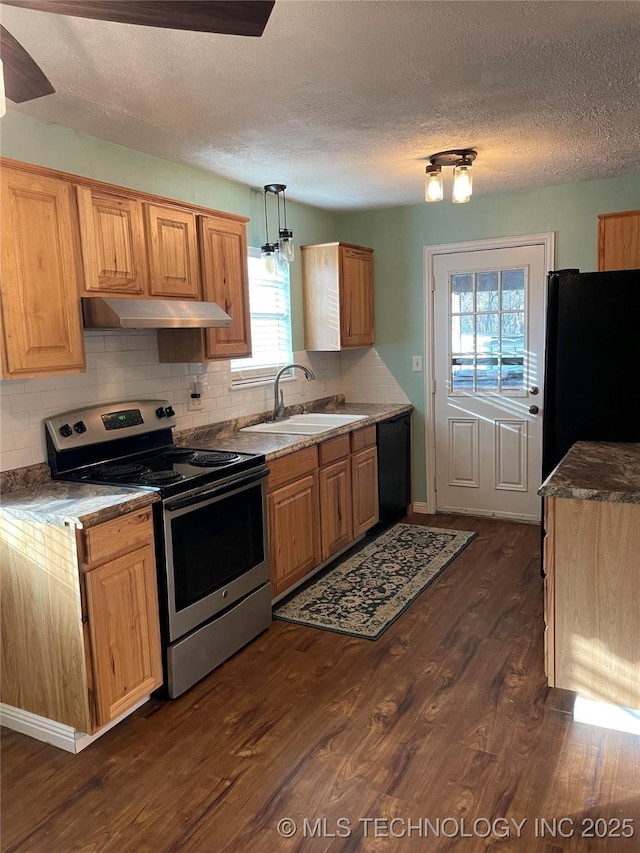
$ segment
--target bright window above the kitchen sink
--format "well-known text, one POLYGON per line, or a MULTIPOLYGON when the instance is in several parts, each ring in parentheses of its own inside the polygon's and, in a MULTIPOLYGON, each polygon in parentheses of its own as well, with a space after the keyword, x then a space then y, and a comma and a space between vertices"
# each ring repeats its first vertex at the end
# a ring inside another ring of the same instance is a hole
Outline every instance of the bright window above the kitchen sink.
POLYGON ((231 360, 234 386, 273 379, 293 361, 289 265, 268 275, 258 249, 249 249, 249 305, 253 355, 231 360))

